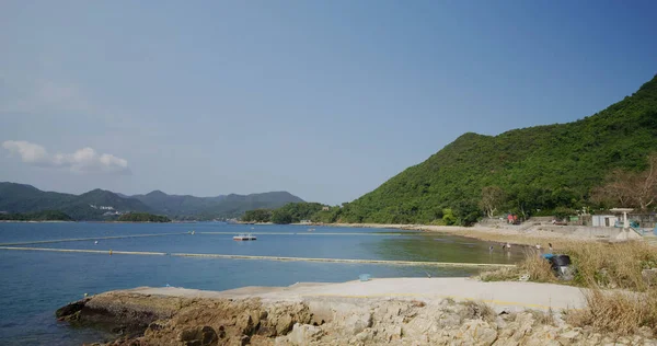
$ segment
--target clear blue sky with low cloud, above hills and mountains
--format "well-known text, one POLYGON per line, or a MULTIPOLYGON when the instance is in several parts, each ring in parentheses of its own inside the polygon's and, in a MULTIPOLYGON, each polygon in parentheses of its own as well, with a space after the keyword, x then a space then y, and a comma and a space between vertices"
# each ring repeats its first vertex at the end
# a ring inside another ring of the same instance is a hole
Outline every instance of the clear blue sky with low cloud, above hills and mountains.
POLYGON ((350 201, 657 73, 655 1, 0 2, 0 181, 350 201))

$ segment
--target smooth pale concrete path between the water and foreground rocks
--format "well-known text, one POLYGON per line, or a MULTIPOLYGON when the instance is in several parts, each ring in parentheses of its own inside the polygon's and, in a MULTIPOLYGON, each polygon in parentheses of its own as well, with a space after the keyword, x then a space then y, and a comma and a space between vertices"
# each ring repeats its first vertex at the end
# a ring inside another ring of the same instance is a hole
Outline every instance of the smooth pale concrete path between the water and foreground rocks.
POLYGON ((471 278, 383 278, 342 284, 301 282, 290 287, 244 287, 227 291, 201 291, 174 287, 140 287, 128 290, 143 295, 187 298, 254 298, 266 301, 341 299, 480 300, 496 308, 553 309, 585 305, 580 288, 537 282, 482 282, 471 278))

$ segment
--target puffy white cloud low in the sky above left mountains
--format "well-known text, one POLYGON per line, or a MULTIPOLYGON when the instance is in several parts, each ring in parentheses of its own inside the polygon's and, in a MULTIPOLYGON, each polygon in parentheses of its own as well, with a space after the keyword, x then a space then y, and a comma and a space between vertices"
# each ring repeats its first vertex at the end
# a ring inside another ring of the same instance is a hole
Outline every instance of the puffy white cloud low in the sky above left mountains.
POLYGON ((128 161, 113 154, 99 154, 92 148, 82 148, 73 153, 49 154, 36 143, 25 140, 7 140, 2 148, 12 154, 19 154, 25 163, 42 168, 67 169, 74 173, 129 174, 128 161))

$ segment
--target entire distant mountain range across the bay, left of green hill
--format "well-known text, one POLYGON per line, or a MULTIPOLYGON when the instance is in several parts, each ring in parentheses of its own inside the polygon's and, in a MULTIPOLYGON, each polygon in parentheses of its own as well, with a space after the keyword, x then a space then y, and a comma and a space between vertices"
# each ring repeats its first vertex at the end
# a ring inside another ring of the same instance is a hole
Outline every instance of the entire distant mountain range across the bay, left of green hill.
POLYGON ((251 195, 195 197, 168 195, 153 191, 146 195, 126 196, 104 189, 82 195, 44 192, 32 185, 0 182, 0 212, 35 212, 59 210, 76 220, 113 219, 112 214, 151 212, 176 219, 215 219, 239 217, 258 208, 278 208, 303 199, 287 192, 251 195))

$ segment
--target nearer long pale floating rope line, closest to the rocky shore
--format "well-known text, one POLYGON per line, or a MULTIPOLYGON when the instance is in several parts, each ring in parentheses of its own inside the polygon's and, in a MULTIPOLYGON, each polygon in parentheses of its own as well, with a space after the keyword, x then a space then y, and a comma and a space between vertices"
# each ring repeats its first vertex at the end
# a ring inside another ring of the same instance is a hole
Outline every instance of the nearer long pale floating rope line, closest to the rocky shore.
POLYGON ((280 256, 251 256, 251 255, 223 255, 223 254, 189 254, 189 253, 165 253, 165 252, 143 252, 143 251, 106 251, 106 250, 76 250, 76 249, 47 249, 47 247, 18 247, 0 246, 0 250, 15 251, 47 251, 47 252, 68 252, 68 253, 93 253, 110 255, 159 255, 174 257, 206 257, 222 260, 260 260, 260 261, 283 261, 283 262, 323 262, 323 263, 364 263, 364 264, 387 264, 387 265, 408 265, 408 266, 438 266, 438 267, 514 267, 514 264, 493 264, 493 263, 449 263, 449 262, 415 262, 415 261, 391 261, 391 260, 348 260, 348 258, 309 258, 309 257, 280 257, 280 256))

